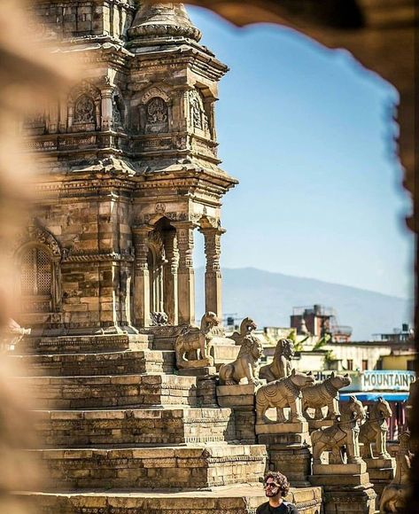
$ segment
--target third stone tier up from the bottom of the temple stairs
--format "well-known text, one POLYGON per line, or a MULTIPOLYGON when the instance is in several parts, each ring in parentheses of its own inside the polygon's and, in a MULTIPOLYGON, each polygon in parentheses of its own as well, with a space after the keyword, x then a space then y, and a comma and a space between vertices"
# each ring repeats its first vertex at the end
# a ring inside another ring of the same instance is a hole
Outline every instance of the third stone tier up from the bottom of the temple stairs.
POLYGON ((35 413, 43 448, 159 445, 235 439, 230 409, 44 410, 35 413))

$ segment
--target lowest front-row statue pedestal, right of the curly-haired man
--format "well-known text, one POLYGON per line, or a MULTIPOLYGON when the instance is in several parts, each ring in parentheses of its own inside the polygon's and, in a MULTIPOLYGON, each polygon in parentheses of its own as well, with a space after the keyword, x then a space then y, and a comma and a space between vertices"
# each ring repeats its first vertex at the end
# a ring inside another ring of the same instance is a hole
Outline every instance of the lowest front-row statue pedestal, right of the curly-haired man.
POLYGON ((310 482, 323 487, 324 514, 376 512, 376 493, 366 463, 314 464, 310 482))

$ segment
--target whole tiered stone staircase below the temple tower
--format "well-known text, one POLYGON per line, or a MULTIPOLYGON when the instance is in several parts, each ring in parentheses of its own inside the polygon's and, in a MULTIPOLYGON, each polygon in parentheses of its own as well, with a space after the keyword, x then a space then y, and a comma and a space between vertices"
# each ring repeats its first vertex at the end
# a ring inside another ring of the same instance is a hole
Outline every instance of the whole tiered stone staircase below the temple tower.
MULTIPOLYGON (((48 485, 24 495, 43 514, 238 514, 263 501, 266 448, 240 444, 213 378, 178 376, 151 336, 29 338, 10 359, 35 397, 31 452, 48 485)), ((294 500, 314 514, 319 495, 294 500)))

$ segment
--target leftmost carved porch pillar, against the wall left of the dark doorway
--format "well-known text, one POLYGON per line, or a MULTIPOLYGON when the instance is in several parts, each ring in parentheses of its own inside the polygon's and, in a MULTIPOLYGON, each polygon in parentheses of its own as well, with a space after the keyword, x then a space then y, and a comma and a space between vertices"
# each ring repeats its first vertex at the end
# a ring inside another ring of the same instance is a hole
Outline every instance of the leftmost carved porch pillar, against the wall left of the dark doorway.
POLYGON ((137 327, 150 325, 150 276, 147 263, 149 227, 133 229, 134 247, 134 320, 137 327))

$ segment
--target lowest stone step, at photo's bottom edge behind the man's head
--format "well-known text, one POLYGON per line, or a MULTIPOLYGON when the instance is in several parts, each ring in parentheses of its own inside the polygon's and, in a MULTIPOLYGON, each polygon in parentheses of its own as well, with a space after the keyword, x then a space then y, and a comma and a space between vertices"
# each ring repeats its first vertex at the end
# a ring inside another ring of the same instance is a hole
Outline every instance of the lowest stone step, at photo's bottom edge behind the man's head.
MULTIPOLYGON (((255 512, 261 503, 266 502, 261 484, 177 493, 94 491, 89 494, 34 493, 26 496, 43 514, 247 514, 255 512)), ((322 489, 291 489, 286 500, 295 503, 300 514, 318 514, 322 509, 322 489)))

